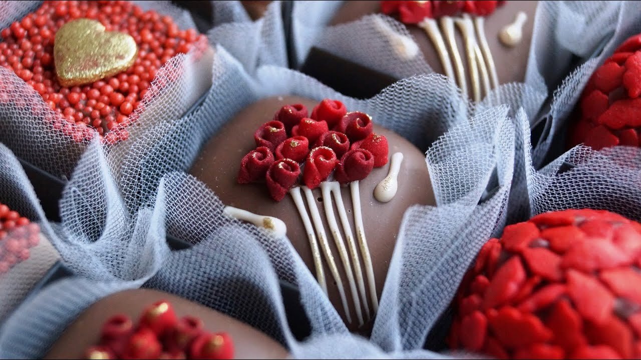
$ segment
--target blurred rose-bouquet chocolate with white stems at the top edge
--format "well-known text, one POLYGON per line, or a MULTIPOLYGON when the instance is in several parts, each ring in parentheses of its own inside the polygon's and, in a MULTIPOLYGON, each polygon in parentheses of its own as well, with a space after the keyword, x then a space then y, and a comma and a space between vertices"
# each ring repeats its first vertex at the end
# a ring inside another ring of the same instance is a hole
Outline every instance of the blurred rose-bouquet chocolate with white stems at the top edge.
MULTIPOLYGON (((463 19, 461 13, 470 13, 465 6, 477 6, 478 3, 494 3, 493 6, 497 5, 497 1, 346 1, 345 4, 338 10, 335 14, 335 17, 331 20, 331 25, 343 24, 345 22, 351 22, 358 20, 364 15, 370 15, 374 13, 381 13, 383 8, 381 3, 390 3, 385 9, 390 13, 390 16, 394 16, 396 19, 399 19, 401 22, 405 22, 410 34, 414 38, 416 44, 419 46, 420 52, 423 54, 425 60, 428 62, 429 66, 439 74, 446 74, 444 65, 440 60, 437 47, 435 47, 434 42, 430 40, 430 37, 422 27, 420 27, 416 22, 420 22, 418 18, 407 19, 411 17, 408 15, 399 16, 398 6, 406 6, 408 12, 418 12, 420 15, 415 15, 420 18, 423 15, 429 14, 429 16, 436 18, 435 25, 437 26, 437 31, 435 33, 440 33, 440 37, 443 39, 445 51, 447 51, 447 58, 451 61, 452 74, 456 78, 456 83, 460 88, 463 88, 461 85, 461 79, 458 78, 456 73, 456 61, 454 60, 454 54, 458 53, 462 61, 462 69, 465 73, 465 76, 462 78, 465 79, 465 84, 467 87, 467 92, 469 96, 474 100, 478 101, 482 99, 487 91, 485 91, 484 86, 484 77, 481 72, 481 65, 485 67, 488 71, 489 87, 495 88, 497 85, 494 84, 492 79, 492 71, 490 69, 490 62, 485 59, 487 57, 484 54, 483 46, 481 42, 478 41, 479 51, 483 54, 483 60, 476 61, 476 67, 478 68, 478 78, 479 78, 479 93, 478 95, 474 94, 473 91, 473 81, 472 81, 472 69, 470 69, 471 61, 468 61, 470 54, 476 54, 476 51, 467 51, 465 37, 463 37, 463 32, 458 24, 453 25, 453 35, 456 41, 456 48, 458 51, 454 52, 451 50, 449 45, 449 40, 447 40, 447 31, 445 31, 445 26, 443 19, 445 18, 442 15, 454 14, 452 19, 463 19), (405 3, 405 4, 401 4, 405 3), (465 4, 471 3, 472 5, 465 4), (448 9, 454 6, 456 9, 448 9), (424 8, 428 10, 422 10, 424 8)), ((502 3, 502 2, 498 2, 502 3)), ((529 56, 529 44, 532 38, 532 30, 534 26, 534 15, 537 8, 538 1, 504 1, 503 4, 498 4, 494 12, 489 13, 488 15, 474 15, 471 13, 470 26, 472 31, 474 31, 474 19, 481 17, 485 22, 485 37, 487 38, 487 44, 489 52, 494 62, 494 67, 497 74, 498 85, 511 82, 522 82, 525 77, 526 65, 528 64, 529 56), (510 26, 506 28, 506 26, 510 26)), ((385 4, 383 4, 385 5, 385 4)), ((485 9, 477 9, 476 13, 483 13, 485 9)), ((403 10, 406 11, 406 10, 403 10)), ((456 21, 455 21, 456 22, 456 21)), ((392 31, 388 26, 377 26, 381 32, 381 37, 390 36, 390 31, 392 31)), ((479 40, 479 33, 474 31, 472 37, 479 40)), ((406 49, 406 51, 408 51, 406 49)), ((411 52, 405 53, 401 56, 413 56, 411 52)), ((474 57, 476 58, 476 56, 474 57)))

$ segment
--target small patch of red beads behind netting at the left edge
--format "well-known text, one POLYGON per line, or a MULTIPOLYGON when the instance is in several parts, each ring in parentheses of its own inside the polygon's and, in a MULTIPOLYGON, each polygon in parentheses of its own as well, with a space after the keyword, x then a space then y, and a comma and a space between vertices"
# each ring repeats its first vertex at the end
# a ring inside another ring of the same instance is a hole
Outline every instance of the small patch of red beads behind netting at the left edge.
POLYGON ((29 258, 29 248, 40 243, 40 227, 0 203, 0 275, 29 258))

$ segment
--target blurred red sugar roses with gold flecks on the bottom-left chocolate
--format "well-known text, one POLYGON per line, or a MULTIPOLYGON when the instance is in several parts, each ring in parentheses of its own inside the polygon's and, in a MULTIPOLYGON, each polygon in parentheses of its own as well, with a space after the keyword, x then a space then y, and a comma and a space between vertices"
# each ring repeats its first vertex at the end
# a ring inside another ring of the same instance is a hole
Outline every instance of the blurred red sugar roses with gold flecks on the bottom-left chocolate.
POLYGON ((234 345, 226 332, 212 333, 193 316, 181 319, 166 301, 146 309, 138 324, 114 315, 103 325, 100 343, 87 359, 231 359, 234 345))

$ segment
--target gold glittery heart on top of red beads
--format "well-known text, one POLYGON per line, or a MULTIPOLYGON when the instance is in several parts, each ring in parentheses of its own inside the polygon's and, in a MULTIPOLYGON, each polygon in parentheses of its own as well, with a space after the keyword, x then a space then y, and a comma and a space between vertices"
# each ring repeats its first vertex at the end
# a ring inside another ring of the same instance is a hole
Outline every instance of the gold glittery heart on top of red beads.
POLYGON ((96 20, 77 19, 56 32, 53 60, 60 85, 93 83, 133 65, 138 53, 133 37, 104 30, 96 20))

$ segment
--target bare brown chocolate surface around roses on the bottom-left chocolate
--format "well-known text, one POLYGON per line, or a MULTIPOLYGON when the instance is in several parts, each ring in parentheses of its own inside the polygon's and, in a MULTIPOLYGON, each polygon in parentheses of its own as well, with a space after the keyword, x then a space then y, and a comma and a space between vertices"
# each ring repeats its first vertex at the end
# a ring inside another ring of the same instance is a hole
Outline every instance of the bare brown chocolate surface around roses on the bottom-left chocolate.
POLYGON ((169 293, 137 289, 115 293, 90 306, 67 327, 45 358, 85 358, 85 350, 98 343, 101 328, 108 318, 124 314, 137 322, 147 307, 160 300, 169 301, 179 318, 196 316, 203 320, 207 331, 227 332, 233 338, 236 359, 284 359, 288 356, 287 350, 269 336, 209 307, 169 293))

